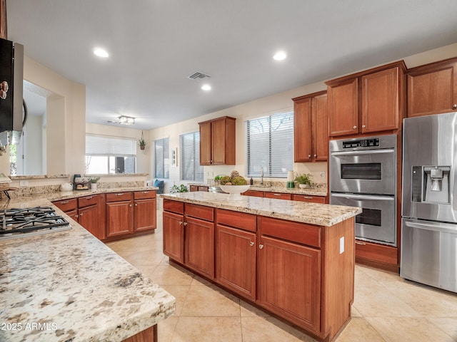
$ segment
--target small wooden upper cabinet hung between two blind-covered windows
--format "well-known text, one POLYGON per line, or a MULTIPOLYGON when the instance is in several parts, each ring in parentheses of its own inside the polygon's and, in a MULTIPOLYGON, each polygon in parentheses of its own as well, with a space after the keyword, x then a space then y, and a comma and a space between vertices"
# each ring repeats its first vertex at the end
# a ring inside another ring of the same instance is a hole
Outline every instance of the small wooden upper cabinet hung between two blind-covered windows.
POLYGON ((200 165, 235 165, 235 118, 199 123, 200 165))

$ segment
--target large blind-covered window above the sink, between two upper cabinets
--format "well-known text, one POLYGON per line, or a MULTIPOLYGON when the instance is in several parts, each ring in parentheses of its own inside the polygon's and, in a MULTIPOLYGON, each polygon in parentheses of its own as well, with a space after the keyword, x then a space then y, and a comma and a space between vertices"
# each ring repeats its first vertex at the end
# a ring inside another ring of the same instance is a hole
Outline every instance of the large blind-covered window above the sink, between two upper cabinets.
POLYGON ((293 170, 293 112, 246 121, 247 175, 287 177, 293 170))

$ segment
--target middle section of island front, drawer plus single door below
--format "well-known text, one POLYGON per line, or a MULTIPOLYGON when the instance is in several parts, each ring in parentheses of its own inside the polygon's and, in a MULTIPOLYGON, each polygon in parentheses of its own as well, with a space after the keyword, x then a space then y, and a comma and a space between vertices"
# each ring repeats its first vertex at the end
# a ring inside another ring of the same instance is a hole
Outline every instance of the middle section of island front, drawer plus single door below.
POLYGON ((256 216, 217 209, 216 281, 256 300, 256 216))

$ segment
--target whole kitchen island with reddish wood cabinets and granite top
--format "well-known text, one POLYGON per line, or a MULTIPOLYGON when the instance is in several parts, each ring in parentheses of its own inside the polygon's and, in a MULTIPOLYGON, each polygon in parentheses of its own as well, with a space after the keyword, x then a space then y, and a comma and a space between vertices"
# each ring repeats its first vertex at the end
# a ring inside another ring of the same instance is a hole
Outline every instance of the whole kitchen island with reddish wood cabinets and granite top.
POLYGON ((164 194, 164 254, 333 341, 351 318, 358 207, 211 192, 164 194))

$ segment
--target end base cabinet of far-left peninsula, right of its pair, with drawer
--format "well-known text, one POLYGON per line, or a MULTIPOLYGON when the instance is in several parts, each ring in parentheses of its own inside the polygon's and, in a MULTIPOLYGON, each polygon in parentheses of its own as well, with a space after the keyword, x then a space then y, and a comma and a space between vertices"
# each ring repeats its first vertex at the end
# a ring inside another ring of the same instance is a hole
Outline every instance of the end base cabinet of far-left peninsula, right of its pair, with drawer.
POLYGON ((156 190, 134 192, 134 232, 156 229, 156 190))

